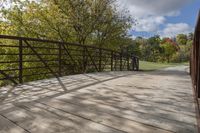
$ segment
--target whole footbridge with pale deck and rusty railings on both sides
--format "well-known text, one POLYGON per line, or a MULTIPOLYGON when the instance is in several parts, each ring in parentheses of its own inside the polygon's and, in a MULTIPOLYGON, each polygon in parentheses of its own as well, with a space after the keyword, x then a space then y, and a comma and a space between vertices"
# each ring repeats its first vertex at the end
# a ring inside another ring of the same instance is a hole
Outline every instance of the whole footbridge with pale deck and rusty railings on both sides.
POLYGON ((151 72, 125 50, 0 35, 0 132, 199 132, 199 27, 190 67, 151 72))

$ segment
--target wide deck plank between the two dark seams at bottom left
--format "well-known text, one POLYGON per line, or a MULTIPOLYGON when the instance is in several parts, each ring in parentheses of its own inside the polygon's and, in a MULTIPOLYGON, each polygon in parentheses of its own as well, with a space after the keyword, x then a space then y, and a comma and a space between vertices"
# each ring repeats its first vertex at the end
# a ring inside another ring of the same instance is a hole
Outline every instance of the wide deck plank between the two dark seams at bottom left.
POLYGON ((18 104, 4 115, 31 133, 123 133, 39 103, 18 104))

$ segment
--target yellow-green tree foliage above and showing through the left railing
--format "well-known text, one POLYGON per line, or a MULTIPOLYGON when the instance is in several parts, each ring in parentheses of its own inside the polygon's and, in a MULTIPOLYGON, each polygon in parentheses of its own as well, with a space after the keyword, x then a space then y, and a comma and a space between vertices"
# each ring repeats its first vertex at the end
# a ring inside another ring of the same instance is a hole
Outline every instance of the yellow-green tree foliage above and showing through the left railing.
MULTIPOLYGON (((119 12, 115 0, 3 0, 0 4, 0 34, 23 36, 31 38, 41 38, 48 40, 59 40, 65 42, 79 43, 82 45, 95 45, 97 47, 119 50, 131 43, 127 31, 135 23, 130 17, 128 11, 119 12), (7 4, 9 3, 9 6, 7 4)), ((18 45, 18 42, 0 40, 1 44, 18 45)), ((36 47, 51 47, 49 43, 29 42, 36 47)), ((1 45, 0 44, 0 45, 1 45)), ((70 49, 70 47, 68 46, 70 49)), ((58 54, 56 50, 36 49, 38 53, 58 54)), ((76 48, 78 50, 78 48, 76 48)), ((70 51, 71 54, 83 54, 70 51)), ((0 54, 18 53, 18 48, 1 48, 0 54)), ((33 51, 26 49, 24 54, 33 54, 33 51)), ((96 53, 91 53, 95 55, 96 53)), ((18 56, 0 55, 0 61, 18 61, 18 56)), ((56 56, 43 56, 45 60, 56 60, 56 56)), ((39 60, 37 56, 23 56, 24 60, 39 60)), ((76 58, 76 63, 80 62, 76 58)), ((80 73, 81 68, 75 67, 69 62, 69 57, 63 59, 63 63, 73 68, 71 71, 64 71, 64 75, 70 73, 80 73)), ((104 59, 102 59, 104 61, 104 59)), ((105 60, 106 62, 106 60, 105 60)), ((82 63, 82 62, 81 62, 82 63)), ((79 65, 82 65, 79 63, 79 65)), ((51 62, 48 65, 57 65, 51 62)), ((23 63, 24 68, 43 67, 44 64, 38 62, 23 63)), ((3 64, 1 70, 18 68, 18 63, 3 64)), ((57 71, 58 68, 53 68, 57 71)), ((94 71, 88 68, 88 71, 94 71)), ((37 69, 23 71, 24 75, 37 73, 48 73, 48 69, 37 69)), ((18 76, 18 71, 8 73, 9 75, 18 76)), ((35 75, 27 77, 25 81, 42 79, 49 75, 35 75)), ((3 78, 0 75, 0 78, 3 78)), ((5 82, 4 82, 5 83, 5 82)), ((1 84, 1 83, 0 83, 1 84)))

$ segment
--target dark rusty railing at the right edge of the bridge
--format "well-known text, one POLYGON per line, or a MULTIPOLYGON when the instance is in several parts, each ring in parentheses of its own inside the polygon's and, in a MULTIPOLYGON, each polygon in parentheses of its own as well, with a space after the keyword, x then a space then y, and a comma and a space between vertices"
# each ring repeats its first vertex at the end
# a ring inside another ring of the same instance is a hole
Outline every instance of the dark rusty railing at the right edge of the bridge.
POLYGON ((190 73, 197 98, 200 98, 200 12, 195 27, 194 42, 191 49, 190 73))

